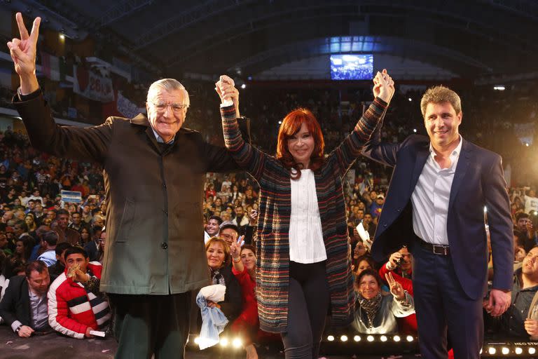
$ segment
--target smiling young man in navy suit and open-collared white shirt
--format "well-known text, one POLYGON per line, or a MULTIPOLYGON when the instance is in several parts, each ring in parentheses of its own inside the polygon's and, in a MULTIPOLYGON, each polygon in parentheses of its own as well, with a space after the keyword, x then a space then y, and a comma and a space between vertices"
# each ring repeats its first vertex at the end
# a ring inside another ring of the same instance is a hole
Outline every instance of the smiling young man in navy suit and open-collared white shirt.
POLYGON ((403 244, 411 248, 424 358, 447 358, 447 334, 455 358, 480 358, 488 269, 484 207, 494 265, 485 308, 500 316, 510 306, 513 237, 502 160, 462 138, 461 100, 453 90, 430 88, 420 107, 428 137, 387 144, 380 123, 364 147, 366 156, 394 167, 372 254, 380 262, 403 244))

